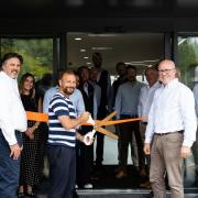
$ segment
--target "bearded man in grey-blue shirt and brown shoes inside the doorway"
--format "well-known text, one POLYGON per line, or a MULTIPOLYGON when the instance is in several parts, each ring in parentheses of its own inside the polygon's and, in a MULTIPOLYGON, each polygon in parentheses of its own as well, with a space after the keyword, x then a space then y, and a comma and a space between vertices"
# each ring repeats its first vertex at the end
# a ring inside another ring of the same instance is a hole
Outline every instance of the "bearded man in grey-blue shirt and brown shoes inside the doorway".
MULTIPOLYGON (((135 119, 138 118, 138 105, 139 96, 143 84, 136 80, 136 67, 129 65, 127 67, 128 81, 120 85, 116 97, 114 110, 118 112, 117 119, 135 119)), ((133 165, 140 174, 144 172, 144 153, 143 143, 140 134, 139 122, 125 122, 120 124, 120 168, 117 178, 127 176, 128 164, 128 147, 131 144, 131 151, 134 151, 135 136, 138 145, 138 156, 135 152, 132 153, 133 165), (134 135, 133 135, 134 134, 134 135), (136 158, 139 160, 139 167, 136 165, 136 158)))

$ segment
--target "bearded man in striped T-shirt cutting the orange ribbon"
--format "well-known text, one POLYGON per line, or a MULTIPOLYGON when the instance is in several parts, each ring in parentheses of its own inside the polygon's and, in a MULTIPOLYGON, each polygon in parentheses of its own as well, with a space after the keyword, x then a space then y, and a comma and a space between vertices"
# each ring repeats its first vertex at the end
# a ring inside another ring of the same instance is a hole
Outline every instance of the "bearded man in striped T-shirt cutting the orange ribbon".
MULTIPOLYGON (((76 88, 74 72, 63 72, 58 84, 59 91, 54 95, 48 108, 48 197, 72 198, 76 180, 76 139, 86 142, 82 135, 76 133, 76 128, 88 121, 89 112, 82 112, 76 118, 75 108, 69 99, 76 88)), ((91 143, 92 140, 89 140, 88 144, 91 143)))

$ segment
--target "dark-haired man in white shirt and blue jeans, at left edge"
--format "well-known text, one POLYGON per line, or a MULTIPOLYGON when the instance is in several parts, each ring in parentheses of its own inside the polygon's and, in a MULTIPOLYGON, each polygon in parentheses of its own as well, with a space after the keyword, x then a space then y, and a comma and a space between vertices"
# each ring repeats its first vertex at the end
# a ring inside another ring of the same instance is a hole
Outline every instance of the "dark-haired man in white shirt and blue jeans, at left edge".
POLYGON ((0 197, 15 197, 20 155, 21 132, 26 131, 26 114, 18 89, 18 74, 23 58, 8 53, 2 58, 0 72, 0 197))

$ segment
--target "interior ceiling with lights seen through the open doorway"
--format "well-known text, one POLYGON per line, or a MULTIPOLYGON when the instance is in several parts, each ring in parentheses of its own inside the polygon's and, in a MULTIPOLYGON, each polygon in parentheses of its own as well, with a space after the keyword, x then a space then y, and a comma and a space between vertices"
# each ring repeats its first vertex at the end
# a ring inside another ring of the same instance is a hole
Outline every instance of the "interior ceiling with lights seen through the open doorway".
POLYGON ((68 33, 67 66, 76 69, 81 65, 92 66, 91 54, 102 54, 102 67, 114 74, 118 62, 138 67, 139 73, 145 66, 155 64, 164 56, 164 35, 162 33, 68 33), (80 41, 76 41, 80 37, 80 41), (99 50, 92 48, 99 47, 99 50), (100 50, 107 47, 107 50, 100 50), (86 50, 86 52, 80 52, 86 50), (85 58, 88 57, 88 58, 85 58))

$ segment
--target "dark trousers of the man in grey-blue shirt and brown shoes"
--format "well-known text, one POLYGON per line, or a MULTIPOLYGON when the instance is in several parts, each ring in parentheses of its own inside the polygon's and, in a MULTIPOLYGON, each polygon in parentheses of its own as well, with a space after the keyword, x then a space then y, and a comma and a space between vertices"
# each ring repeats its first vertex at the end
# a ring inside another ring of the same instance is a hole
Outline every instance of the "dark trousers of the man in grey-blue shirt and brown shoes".
MULTIPOLYGON (((128 116, 121 116, 121 119, 130 119, 128 116)), ((139 166, 144 167, 144 153, 143 153, 143 142, 141 139, 139 121, 125 122, 120 124, 120 163, 121 166, 127 166, 128 163, 128 147, 132 144, 133 134, 138 144, 139 153, 139 166)))

